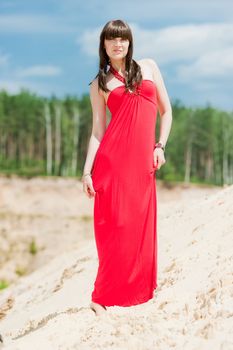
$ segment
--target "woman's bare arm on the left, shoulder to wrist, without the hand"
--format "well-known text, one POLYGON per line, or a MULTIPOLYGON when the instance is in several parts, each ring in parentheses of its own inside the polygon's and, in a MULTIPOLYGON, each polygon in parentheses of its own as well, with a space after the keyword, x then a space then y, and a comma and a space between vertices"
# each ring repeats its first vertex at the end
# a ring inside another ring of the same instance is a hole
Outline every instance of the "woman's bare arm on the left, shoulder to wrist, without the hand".
POLYGON ((92 106, 92 132, 89 140, 83 176, 90 174, 99 144, 106 131, 106 104, 101 90, 98 90, 98 78, 90 85, 90 100, 92 106))

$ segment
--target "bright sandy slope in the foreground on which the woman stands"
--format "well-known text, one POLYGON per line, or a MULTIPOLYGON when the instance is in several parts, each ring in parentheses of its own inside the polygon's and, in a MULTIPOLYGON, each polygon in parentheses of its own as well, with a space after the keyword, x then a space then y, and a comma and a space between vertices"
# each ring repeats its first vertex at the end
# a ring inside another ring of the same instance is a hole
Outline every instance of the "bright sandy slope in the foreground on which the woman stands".
POLYGON ((98 261, 86 240, 0 294, 4 349, 233 349, 233 186, 198 198, 160 202, 152 300, 96 317, 98 261))

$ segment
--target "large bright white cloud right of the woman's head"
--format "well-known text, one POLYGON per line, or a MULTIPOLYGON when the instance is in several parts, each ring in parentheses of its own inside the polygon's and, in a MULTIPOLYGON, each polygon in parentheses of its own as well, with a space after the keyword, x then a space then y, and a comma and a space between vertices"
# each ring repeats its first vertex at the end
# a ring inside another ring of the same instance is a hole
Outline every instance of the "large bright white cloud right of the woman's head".
POLYGON ((233 24, 180 25, 155 31, 135 26, 134 31, 137 56, 152 56, 161 64, 193 60, 233 45, 233 24))

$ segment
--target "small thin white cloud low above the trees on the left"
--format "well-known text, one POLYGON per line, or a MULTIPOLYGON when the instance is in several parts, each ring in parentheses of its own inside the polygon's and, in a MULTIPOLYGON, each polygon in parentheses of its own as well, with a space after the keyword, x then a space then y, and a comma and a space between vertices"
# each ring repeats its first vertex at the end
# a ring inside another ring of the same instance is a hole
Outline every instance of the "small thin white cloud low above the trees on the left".
POLYGON ((51 77, 61 74, 61 69, 56 66, 32 66, 17 71, 18 77, 51 77))

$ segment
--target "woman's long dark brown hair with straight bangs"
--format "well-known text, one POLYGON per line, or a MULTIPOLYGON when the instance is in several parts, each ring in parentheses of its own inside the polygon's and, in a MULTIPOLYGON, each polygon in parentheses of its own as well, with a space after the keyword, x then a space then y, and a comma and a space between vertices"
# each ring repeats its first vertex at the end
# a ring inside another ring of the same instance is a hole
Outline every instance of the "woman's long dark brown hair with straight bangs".
MULTIPOLYGON (((110 60, 104 48, 105 39, 113 39, 121 37, 122 39, 129 40, 128 52, 125 57, 125 87, 126 91, 135 90, 135 85, 138 85, 142 81, 142 72, 139 64, 132 58, 133 56, 133 36, 129 25, 120 19, 109 21, 103 27, 100 34, 99 42, 99 72, 95 78, 98 77, 99 89, 105 92, 110 91, 106 86, 106 77, 108 73, 108 67, 110 66, 110 60)), ((89 85, 91 82, 89 83, 89 85)))

